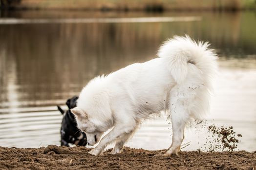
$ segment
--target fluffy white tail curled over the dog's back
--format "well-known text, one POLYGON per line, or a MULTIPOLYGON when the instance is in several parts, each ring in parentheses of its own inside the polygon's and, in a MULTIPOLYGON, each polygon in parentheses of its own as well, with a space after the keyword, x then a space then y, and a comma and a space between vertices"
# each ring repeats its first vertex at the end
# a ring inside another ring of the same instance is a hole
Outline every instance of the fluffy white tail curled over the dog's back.
POLYGON ((188 63, 201 70, 206 79, 214 76, 217 69, 216 54, 208 49, 208 42, 196 43, 188 35, 174 36, 159 49, 158 56, 164 58, 171 75, 177 84, 181 84, 188 74, 188 63))

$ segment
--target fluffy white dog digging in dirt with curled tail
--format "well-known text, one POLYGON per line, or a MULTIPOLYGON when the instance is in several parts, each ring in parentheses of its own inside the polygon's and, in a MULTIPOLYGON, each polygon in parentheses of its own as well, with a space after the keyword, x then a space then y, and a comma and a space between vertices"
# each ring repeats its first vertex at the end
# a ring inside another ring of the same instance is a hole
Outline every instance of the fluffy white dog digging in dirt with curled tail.
POLYGON ((89 153, 99 155, 111 142, 111 153, 120 153, 141 120, 165 111, 171 117, 172 144, 164 155, 177 154, 186 124, 209 111, 217 57, 208 46, 189 36, 174 36, 160 47, 158 58, 91 80, 71 111, 88 145, 112 129, 89 153))

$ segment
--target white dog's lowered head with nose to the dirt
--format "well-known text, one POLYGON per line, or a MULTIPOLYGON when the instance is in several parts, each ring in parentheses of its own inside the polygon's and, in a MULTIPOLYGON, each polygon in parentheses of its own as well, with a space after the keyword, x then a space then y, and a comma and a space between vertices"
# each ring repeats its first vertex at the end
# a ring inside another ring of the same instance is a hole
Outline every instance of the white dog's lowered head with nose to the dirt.
POLYGON ((71 109, 71 112, 76 117, 78 128, 85 132, 88 145, 93 146, 98 143, 105 130, 95 125, 82 109, 75 107, 71 109))

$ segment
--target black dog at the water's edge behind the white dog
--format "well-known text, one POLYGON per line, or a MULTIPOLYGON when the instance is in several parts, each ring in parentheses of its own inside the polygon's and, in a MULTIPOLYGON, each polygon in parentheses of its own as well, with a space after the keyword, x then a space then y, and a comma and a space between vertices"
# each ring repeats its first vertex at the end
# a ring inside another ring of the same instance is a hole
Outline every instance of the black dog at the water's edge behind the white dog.
POLYGON ((61 127, 61 145, 69 147, 68 143, 73 143, 75 145, 85 146, 87 144, 87 138, 85 133, 81 132, 77 128, 77 123, 75 120, 75 116, 71 113, 70 109, 76 107, 76 101, 78 97, 74 96, 71 99, 66 101, 66 105, 68 110, 64 112, 64 110, 58 107, 58 110, 64 115, 62 119, 62 127, 61 127))

